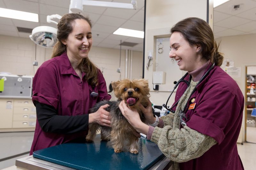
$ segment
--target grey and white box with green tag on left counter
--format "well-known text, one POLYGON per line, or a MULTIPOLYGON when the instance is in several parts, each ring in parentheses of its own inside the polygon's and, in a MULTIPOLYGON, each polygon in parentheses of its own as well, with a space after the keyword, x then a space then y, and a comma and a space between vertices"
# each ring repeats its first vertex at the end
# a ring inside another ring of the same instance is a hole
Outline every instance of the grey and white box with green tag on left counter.
POLYGON ((0 91, 0 98, 31 98, 32 76, 19 76, 0 74, 0 80, 4 80, 0 91))

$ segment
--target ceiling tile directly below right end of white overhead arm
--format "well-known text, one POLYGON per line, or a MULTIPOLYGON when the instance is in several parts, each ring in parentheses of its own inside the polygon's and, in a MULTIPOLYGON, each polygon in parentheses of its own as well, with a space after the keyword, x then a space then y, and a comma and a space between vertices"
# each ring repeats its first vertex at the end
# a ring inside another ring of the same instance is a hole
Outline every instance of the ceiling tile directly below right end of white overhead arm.
POLYGON ((108 8, 103 15, 129 19, 131 18, 137 11, 136 10, 128 10, 128 9, 119 9, 119 8, 108 8))

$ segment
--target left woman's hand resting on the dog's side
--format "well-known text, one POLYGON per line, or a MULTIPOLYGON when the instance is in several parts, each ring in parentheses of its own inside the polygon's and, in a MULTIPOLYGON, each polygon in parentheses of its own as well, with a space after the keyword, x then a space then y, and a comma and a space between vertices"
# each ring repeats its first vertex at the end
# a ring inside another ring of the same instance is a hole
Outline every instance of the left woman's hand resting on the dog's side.
POLYGON ((89 124, 98 123, 102 126, 111 127, 111 122, 109 120, 109 112, 105 108, 109 107, 108 104, 101 106, 95 113, 89 114, 89 124))

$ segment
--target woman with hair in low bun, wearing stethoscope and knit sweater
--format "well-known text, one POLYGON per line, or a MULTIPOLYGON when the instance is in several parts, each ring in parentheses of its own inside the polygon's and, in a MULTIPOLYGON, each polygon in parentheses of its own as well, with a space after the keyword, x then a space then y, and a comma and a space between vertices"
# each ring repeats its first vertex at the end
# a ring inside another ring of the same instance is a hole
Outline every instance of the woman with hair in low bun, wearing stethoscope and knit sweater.
MULTIPOLYGON (((141 106, 148 125, 122 101, 120 110, 137 132, 158 144, 173 170, 242 170, 236 141, 243 119, 244 96, 220 68, 211 27, 200 18, 186 18, 171 28, 170 58, 187 71, 169 115, 158 118, 141 106)), ((175 73, 174 73, 175 74, 175 73)), ((167 104, 166 104, 167 105, 167 104)))

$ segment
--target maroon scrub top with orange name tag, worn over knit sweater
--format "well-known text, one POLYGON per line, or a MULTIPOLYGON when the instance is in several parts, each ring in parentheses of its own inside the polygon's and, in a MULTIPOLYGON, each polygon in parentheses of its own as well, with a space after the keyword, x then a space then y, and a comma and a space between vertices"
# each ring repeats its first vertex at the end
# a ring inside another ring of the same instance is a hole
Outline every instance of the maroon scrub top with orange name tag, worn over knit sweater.
MULTIPOLYGON (((208 65, 207 70, 211 65, 208 65)), ((188 80, 189 75, 185 79, 188 80)), ((174 103, 186 88, 185 83, 180 83, 174 103)), ((180 170, 244 169, 236 146, 243 119, 244 96, 235 80, 219 66, 215 66, 197 85, 196 92, 188 100, 187 108, 193 98, 196 105, 186 113, 187 126, 214 138, 218 144, 201 157, 180 163, 180 170)))

